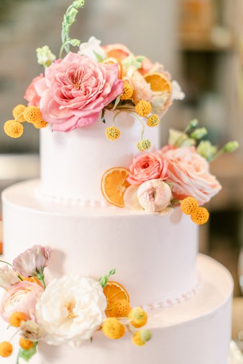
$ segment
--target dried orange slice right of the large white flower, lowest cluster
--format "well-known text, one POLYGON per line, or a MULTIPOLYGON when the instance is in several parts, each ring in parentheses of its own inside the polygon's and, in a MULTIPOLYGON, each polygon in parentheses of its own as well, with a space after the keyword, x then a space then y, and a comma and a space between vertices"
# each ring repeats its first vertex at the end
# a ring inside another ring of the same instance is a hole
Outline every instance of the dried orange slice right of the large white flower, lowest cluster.
POLYGON ((112 305, 118 301, 118 299, 126 299, 130 302, 129 294, 126 289, 117 282, 108 281, 106 287, 104 288, 104 294, 107 298, 107 317, 112 317, 112 305))

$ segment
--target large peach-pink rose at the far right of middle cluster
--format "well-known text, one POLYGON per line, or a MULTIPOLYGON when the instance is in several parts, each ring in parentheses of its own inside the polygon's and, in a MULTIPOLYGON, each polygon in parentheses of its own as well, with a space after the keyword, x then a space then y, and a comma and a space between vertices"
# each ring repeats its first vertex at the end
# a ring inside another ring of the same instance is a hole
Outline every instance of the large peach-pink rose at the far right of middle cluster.
POLYGON ((194 197, 199 205, 208 202, 221 189, 221 185, 209 172, 209 163, 195 147, 170 149, 163 153, 168 163, 167 182, 172 182, 173 197, 182 200, 194 197))

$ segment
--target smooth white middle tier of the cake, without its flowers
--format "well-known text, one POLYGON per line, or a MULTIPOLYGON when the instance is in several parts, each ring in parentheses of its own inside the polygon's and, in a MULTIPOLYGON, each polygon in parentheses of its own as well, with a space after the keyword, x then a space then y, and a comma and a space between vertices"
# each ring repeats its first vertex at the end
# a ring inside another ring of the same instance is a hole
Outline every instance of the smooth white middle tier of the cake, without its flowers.
POLYGON ((170 215, 57 204, 36 197, 39 181, 3 192, 4 259, 34 244, 50 246, 47 282, 66 273, 95 278, 116 268, 132 306, 167 307, 197 286, 197 226, 175 209, 170 215))

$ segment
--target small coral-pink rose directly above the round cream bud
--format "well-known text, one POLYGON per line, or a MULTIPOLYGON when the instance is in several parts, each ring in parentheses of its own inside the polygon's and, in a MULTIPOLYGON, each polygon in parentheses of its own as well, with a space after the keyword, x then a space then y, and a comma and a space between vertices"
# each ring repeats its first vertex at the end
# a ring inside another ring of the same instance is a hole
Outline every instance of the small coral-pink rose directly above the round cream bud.
POLYGON ((148 180, 167 178, 167 163, 158 153, 140 154, 133 159, 127 181, 135 186, 148 180))

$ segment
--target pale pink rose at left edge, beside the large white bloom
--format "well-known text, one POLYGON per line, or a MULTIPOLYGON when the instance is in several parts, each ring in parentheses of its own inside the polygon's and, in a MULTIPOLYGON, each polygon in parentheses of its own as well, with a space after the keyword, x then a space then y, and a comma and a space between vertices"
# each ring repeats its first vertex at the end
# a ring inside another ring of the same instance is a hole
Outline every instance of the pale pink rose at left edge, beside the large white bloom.
POLYGON ((24 281, 15 284, 3 295, 0 315, 9 322, 12 313, 23 312, 26 319, 35 320, 37 297, 42 292, 43 288, 36 283, 24 281))

